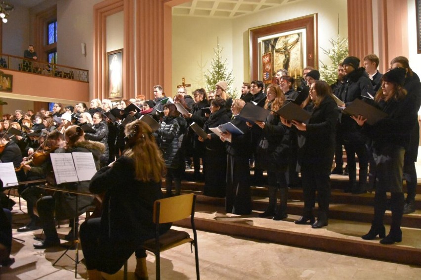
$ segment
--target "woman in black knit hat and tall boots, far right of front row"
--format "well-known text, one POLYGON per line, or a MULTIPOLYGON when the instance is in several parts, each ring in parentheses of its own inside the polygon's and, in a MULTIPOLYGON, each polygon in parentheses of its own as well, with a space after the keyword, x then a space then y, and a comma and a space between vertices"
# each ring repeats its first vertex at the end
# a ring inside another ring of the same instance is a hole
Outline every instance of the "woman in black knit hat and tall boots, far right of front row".
POLYGON ((374 197, 374 219, 370 231, 362 239, 382 238, 380 244, 402 241, 401 221, 404 209, 402 175, 405 148, 408 147, 418 107, 407 102, 407 91, 403 88, 406 70, 395 68, 381 78, 381 88, 375 96, 376 105, 388 116, 374 125, 368 125, 359 115, 352 118, 372 140, 373 157, 376 162, 376 194, 374 197), (383 216, 386 210, 386 192, 390 192, 392 222, 386 236, 383 216))

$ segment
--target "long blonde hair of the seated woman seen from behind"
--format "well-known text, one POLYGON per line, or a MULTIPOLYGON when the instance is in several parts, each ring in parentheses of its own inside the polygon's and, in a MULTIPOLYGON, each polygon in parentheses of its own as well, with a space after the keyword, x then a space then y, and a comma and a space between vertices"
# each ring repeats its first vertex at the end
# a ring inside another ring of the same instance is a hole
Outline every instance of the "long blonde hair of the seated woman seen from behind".
POLYGON ((128 147, 124 155, 134 161, 135 179, 160 182, 165 174, 165 163, 149 125, 135 120, 126 125, 125 132, 128 147))

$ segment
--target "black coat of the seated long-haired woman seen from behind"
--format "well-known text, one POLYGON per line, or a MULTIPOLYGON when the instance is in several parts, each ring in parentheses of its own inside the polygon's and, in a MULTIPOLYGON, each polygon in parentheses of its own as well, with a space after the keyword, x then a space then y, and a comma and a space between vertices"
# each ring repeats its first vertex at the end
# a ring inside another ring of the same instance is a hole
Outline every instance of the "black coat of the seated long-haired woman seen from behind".
MULTIPOLYGON (((128 255, 145 240, 154 237, 153 205, 163 198, 161 182, 139 181, 134 176, 133 160, 122 156, 112 167, 99 170, 89 185, 92 193, 105 192, 99 245, 106 243, 109 247, 112 244, 116 249, 129 252, 128 255)), ((170 226, 161 225, 161 233, 167 232, 170 226)), ((101 262, 104 267, 97 269, 116 273, 126 259, 101 262)))

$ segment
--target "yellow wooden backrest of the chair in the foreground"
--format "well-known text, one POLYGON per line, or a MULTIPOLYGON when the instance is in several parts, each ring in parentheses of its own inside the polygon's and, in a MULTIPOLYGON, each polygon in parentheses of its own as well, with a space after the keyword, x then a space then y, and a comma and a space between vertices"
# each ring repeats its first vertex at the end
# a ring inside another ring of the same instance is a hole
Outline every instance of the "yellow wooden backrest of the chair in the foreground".
POLYGON ((170 223, 189 217, 194 211, 194 194, 183 194, 163 198, 154 203, 154 223, 157 223, 159 210, 159 223, 170 223))

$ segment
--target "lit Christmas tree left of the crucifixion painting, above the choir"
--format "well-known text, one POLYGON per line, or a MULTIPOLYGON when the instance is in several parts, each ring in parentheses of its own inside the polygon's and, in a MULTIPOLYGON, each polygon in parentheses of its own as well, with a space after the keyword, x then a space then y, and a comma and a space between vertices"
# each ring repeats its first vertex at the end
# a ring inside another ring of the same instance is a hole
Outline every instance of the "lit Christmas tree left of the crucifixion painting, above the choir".
POLYGON ((206 90, 209 92, 215 89, 215 84, 219 81, 226 81, 228 84, 227 94, 231 98, 237 97, 237 89, 232 89, 231 86, 234 83, 234 77, 232 71, 228 70, 227 60, 222 59, 223 48, 219 47, 219 37, 218 37, 217 48, 214 48, 215 58, 212 58, 211 61, 211 70, 208 70, 208 74, 205 74, 206 79, 206 90))

